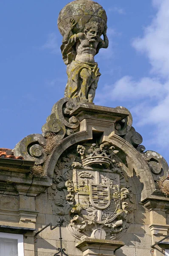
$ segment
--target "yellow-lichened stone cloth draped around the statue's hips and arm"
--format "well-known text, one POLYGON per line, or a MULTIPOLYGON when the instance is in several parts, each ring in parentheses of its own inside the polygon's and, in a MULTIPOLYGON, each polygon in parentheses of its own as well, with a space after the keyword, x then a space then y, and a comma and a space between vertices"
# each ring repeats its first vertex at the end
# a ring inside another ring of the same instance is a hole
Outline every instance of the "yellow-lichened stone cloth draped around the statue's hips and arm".
POLYGON ((67 44, 62 44, 61 51, 64 63, 67 67, 68 82, 65 88, 65 97, 76 98, 81 96, 81 71, 85 68, 90 73, 90 83, 88 84, 87 92, 91 84, 100 76, 99 67, 97 63, 87 63, 75 61, 76 58, 76 34, 72 35, 67 44))

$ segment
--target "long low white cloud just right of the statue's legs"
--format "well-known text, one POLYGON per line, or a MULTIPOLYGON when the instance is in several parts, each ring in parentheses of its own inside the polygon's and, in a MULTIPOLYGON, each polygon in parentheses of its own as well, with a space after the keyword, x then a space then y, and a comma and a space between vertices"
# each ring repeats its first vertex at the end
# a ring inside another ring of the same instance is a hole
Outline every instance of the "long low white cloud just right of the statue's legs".
POLYGON ((113 85, 104 85, 104 92, 97 95, 97 99, 107 101, 107 97, 112 101, 132 102, 130 105, 138 104, 142 101, 146 105, 165 99, 168 93, 167 86, 162 84, 158 78, 143 77, 135 81, 131 76, 124 76, 113 85))

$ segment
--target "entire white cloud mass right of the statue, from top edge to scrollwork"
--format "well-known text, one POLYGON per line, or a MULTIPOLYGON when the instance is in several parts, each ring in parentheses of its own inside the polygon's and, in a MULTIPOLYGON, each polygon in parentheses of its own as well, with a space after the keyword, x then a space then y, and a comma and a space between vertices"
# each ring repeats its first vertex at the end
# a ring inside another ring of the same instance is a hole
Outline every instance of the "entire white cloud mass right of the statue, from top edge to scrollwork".
MULTIPOLYGON (((151 64, 151 76, 138 81, 124 76, 113 85, 105 85, 104 96, 118 101, 129 102, 130 111, 138 125, 152 125, 150 142, 159 147, 169 144, 169 0, 152 0, 157 14, 144 29, 142 38, 135 38, 132 46, 146 54, 151 64)), ((98 95, 98 100, 103 94, 98 95)))

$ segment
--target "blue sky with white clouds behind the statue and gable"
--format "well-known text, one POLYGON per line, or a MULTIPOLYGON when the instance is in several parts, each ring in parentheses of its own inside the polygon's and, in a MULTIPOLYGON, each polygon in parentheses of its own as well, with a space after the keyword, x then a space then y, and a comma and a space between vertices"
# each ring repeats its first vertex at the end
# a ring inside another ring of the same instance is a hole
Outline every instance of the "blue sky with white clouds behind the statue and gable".
MULTIPOLYGON (((0 1, 0 147, 41 133, 64 95, 59 11, 70 0, 0 1)), ((146 150, 169 163, 169 1, 98 0, 108 17, 108 49, 96 56, 95 104, 124 106, 146 150)))

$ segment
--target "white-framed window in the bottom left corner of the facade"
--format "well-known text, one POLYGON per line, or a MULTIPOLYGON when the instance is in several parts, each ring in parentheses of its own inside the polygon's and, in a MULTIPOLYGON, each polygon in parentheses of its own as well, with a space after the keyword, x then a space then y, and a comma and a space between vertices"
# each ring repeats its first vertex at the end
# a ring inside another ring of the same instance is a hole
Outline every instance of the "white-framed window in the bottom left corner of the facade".
POLYGON ((24 256, 23 235, 0 233, 0 256, 24 256))

